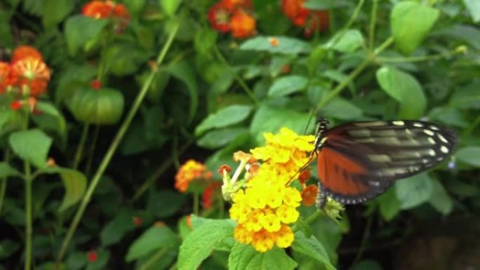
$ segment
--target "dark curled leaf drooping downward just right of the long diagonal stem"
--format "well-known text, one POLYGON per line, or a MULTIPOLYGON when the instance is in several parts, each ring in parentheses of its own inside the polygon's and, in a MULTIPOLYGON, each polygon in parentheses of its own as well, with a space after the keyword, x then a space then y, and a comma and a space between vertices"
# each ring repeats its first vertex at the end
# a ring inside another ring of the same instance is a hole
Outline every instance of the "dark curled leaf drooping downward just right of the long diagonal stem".
POLYGON ((166 71, 187 85, 190 97, 188 114, 188 122, 190 123, 194 119, 196 109, 199 106, 199 88, 196 83, 194 71, 187 61, 178 62, 174 65, 168 66, 166 71))

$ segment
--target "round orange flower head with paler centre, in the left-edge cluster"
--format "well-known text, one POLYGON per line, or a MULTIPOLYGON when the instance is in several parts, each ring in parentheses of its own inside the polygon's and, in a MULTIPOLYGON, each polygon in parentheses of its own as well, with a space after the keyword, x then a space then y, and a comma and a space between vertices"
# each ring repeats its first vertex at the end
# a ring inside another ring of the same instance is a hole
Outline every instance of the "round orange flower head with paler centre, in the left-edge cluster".
POLYGON ((18 86, 21 93, 36 97, 45 92, 50 70, 36 58, 25 58, 13 63, 11 76, 13 85, 18 86))

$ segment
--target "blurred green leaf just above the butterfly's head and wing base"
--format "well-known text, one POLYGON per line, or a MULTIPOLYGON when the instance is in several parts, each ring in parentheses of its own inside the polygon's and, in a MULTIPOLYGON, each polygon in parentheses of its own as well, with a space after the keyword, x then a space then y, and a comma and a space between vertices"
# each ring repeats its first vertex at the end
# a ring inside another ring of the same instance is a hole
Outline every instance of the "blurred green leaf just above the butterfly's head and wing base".
POLYGON ((321 109, 322 116, 326 118, 336 118, 342 120, 358 119, 362 116, 363 112, 359 107, 356 107, 352 102, 349 102, 341 97, 328 102, 326 106, 321 109))

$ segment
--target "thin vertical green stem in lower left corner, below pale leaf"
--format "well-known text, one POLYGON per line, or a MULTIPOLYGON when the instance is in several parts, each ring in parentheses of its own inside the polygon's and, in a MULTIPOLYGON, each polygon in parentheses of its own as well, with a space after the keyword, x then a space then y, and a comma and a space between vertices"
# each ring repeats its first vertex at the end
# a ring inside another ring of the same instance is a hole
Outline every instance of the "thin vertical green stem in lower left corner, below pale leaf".
POLYGON ((24 161, 25 169, 25 270, 32 269, 32 170, 24 161))

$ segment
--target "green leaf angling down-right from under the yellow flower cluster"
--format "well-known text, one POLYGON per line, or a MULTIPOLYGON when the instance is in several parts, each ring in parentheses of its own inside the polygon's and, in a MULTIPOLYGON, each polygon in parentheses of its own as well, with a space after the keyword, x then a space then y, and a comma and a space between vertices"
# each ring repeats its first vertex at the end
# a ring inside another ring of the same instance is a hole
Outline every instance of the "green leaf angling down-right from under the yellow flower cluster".
POLYGON ((335 266, 330 262, 330 258, 328 257, 324 245, 322 245, 315 236, 307 238, 302 231, 297 231, 295 233, 295 241, 293 241, 292 249, 316 259, 321 264, 324 264, 326 269, 335 270, 335 266))

